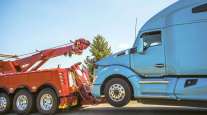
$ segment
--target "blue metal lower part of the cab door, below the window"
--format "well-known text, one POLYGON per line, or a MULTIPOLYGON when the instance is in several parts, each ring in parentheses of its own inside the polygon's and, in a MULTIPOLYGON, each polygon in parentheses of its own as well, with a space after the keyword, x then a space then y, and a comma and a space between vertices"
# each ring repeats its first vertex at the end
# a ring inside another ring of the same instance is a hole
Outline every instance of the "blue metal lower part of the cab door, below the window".
POLYGON ((149 47, 144 54, 131 54, 131 68, 137 73, 146 76, 163 76, 165 67, 157 68, 156 64, 165 65, 165 56, 163 45, 149 47))

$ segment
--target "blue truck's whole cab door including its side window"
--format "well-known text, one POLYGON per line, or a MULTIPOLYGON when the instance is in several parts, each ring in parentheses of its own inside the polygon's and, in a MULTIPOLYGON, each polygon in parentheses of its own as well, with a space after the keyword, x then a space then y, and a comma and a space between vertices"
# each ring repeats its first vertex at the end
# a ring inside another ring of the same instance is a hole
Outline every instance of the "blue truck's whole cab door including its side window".
POLYGON ((143 39, 143 53, 133 52, 131 49, 131 68, 145 77, 160 77, 165 75, 164 46, 161 31, 141 34, 134 44, 138 47, 139 39, 143 39))

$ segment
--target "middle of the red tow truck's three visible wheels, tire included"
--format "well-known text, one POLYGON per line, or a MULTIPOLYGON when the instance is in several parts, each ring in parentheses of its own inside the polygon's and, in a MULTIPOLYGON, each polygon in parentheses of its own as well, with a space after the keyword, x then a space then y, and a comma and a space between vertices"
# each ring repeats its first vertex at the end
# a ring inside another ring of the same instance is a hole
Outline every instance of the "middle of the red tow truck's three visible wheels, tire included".
POLYGON ((27 90, 18 91, 13 100, 13 110, 17 114, 27 115, 34 110, 34 97, 27 90))

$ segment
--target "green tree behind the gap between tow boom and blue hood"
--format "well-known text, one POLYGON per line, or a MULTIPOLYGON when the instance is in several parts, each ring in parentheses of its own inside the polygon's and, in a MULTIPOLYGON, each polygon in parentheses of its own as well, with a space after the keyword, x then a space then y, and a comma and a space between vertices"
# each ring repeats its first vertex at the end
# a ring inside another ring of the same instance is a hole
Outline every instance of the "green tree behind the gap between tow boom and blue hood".
POLYGON ((91 52, 91 56, 86 58, 85 64, 89 69, 91 79, 93 79, 95 62, 110 55, 111 47, 106 39, 98 34, 94 37, 89 51, 91 52))

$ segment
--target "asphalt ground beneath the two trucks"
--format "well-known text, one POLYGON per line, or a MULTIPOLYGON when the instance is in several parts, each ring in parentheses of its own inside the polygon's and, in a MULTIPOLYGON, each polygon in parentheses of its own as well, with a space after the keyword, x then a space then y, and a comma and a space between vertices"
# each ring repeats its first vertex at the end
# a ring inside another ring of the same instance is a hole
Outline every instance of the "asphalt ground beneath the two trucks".
MULTIPOLYGON (((15 115, 10 113, 8 115, 15 115)), ((41 115, 34 113, 32 115, 41 115)), ((207 109, 193 107, 173 107, 159 105, 143 105, 131 102, 123 108, 114 108, 109 104, 84 106, 76 110, 67 110, 57 115, 207 115, 207 109)))

